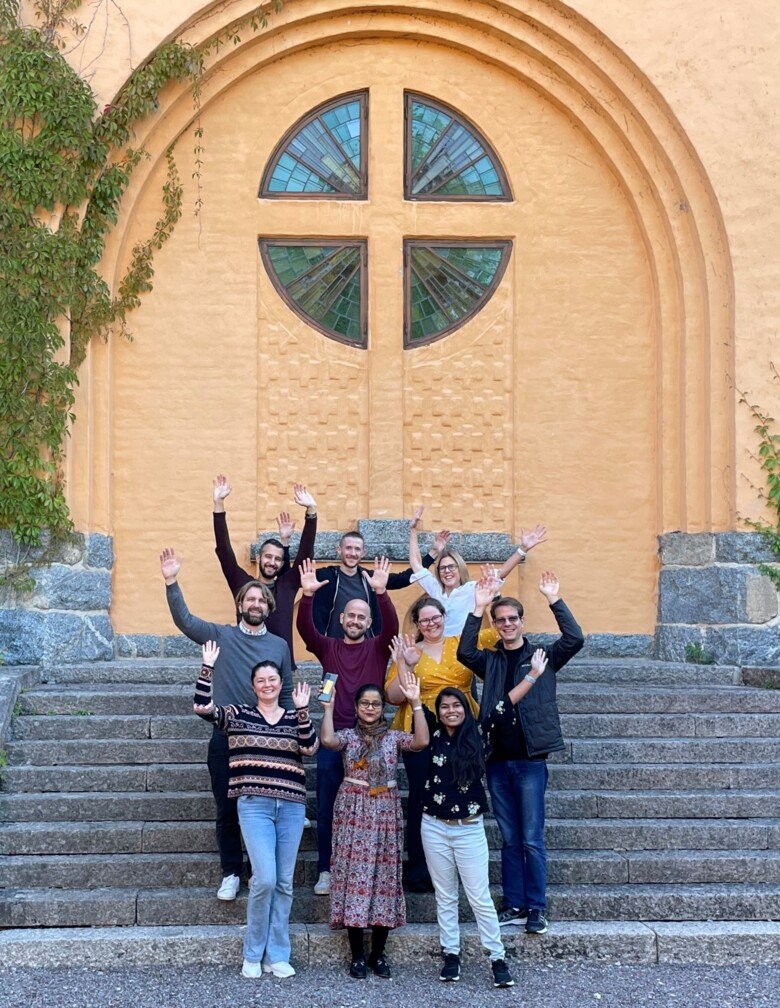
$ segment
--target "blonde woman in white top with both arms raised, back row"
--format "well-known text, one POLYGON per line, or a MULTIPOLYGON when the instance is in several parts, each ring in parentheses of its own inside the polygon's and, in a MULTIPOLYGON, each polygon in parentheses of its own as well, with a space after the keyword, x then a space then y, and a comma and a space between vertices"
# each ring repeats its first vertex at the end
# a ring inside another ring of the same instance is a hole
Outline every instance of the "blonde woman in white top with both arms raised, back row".
MULTIPOLYGON (((476 582, 469 580, 469 569, 461 553, 446 545, 430 568, 425 570, 420 556, 417 526, 422 518, 423 508, 417 508, 409 532, 409 564, 414 571, 411 583, 420 587, 431 599, 436 599, 444 607, 444 636, 460 637, 466 619, 474 609, 476 582)), ((444 533, 440 533, 444 534, 444 533)), ((447 539, 449 532, 446 533, 447 539)), ((484 572, 498 579, 500 589, 518 563, 524 563, 528 553, 547 538, 544 525, 535 525, 529 532, 520 529, 520 545, 495 570, 487 566, 484 572)))

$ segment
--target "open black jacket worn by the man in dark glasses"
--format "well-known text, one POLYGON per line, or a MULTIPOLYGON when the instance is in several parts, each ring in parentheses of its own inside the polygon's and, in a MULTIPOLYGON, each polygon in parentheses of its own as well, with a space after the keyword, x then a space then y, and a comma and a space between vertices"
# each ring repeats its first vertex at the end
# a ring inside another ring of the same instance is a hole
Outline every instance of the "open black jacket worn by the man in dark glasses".
MULTIPOLYGON (((584 644, 579 624, 566 604, 558 599, 550 606, 560 630, 560 637, 551 647, 543 648, 547 655, 544 674, 523 697, 515 710, 520 719, 529 756, 555 752, 563 748, 563 733, 555 699, 557 686, 555 673, 573 658, 584 644)), ((458 645, 458 660, 485 681, 480 705, 480 724, 487 726, 496 704, 506 697, 507 658, 501 641, 495 651, 481 650, 478 646, 482 617, 470 614, 458 645)), ((536 645, 526 637, 520 648, 515 667, 513 686, 531 670, 531 658, 536 645)))

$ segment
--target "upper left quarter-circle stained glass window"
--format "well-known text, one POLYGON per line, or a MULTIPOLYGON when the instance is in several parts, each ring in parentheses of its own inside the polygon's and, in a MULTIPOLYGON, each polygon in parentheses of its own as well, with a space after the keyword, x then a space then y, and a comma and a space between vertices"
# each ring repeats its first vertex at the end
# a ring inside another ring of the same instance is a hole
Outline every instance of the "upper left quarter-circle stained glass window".
POLYGON ((341 95, 312 109, 269 158, 260 196, 365 200, 368 92, 341 95))

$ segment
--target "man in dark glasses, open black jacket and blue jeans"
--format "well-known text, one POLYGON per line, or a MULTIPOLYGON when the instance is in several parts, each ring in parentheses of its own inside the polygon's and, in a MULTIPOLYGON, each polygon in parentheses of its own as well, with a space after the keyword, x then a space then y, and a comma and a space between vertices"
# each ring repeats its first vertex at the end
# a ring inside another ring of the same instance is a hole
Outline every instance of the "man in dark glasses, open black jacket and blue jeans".
POLYGON ((560 598, 557 577, 542 572, 539 591, 547 600, 560 637, 542 648, 547 671, 520 701, 512 690, 524 679, 536 682, 532 659, 538 650, 523 636, 523 607, 517 599, 495 598, 498 582, 477 583, 474 612, 458 647, 458 660, 484 680, 480 724, 487 730, 488 788, 501 831, 502 927, 526 921, 529 934, 547 930, 547 852, 544 846, 544 792, 547 755, 563 749, 556 675, 584 644, 582 631, 560 598), (485 610, 490 607, 499 643, 479 646, 485 610))

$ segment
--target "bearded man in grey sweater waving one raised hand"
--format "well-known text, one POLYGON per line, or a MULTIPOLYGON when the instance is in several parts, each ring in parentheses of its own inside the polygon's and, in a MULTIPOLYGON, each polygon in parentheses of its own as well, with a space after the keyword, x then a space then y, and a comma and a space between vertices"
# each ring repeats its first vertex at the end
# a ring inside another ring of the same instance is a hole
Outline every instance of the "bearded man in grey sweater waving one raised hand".
MULTIPOLYGON (((220 656, 214 668, 214 703, 248 704, 254 707, 257 698, 251 685, 252 669, 261 661, 274 661, 281 669, 282 691, 279 704, 292 709, 292 671, 290 649, 281 637, 269 633, 265 621, 273 612, 271 591, 260 582, 251 581, 236 595, 239 623, 209 623, 193 616, 186 607, 177 577, 181 562, 173 549, 163 549, 160 570, 165 580, 165 594, 173 622, 190 640, 205 644, 216 641, 220 656)), ((222 863, 222 884, 219 899, 235 899, 241 882, 244 858, 241 850, 241 828, 235 798, 228 797, 228 738, 216 726, 209 743, 209 774, 217 805, 217 847, 222 863)))

